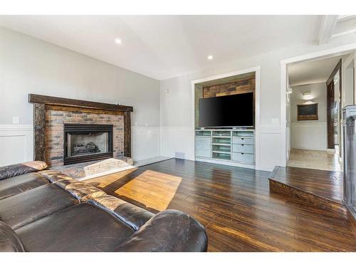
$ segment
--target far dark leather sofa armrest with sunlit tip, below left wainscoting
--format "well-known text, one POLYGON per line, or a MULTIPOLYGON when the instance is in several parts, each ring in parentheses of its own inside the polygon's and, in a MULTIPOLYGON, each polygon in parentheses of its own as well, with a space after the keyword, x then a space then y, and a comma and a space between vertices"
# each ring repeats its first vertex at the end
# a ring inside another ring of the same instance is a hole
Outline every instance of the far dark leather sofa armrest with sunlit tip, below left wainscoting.
POLYGON ((38 172, 43 169, 46 169, 47 167, 48 165, 46 164, 46 162, 39 161, 7 165, 4 167, 0 167, 0 180, 8 179, 29 172, 38 172))

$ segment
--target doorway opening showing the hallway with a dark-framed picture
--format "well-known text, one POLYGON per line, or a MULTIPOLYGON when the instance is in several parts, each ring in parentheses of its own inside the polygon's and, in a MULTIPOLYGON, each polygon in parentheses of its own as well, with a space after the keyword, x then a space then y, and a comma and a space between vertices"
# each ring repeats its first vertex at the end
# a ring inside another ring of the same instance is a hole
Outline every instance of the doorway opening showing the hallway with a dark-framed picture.
POLYGON ((342 108, 355 103, 353 84, 342 85, 342 63, 350 58, 353 53, 287 64, 287 166, 342 172, 342 108))

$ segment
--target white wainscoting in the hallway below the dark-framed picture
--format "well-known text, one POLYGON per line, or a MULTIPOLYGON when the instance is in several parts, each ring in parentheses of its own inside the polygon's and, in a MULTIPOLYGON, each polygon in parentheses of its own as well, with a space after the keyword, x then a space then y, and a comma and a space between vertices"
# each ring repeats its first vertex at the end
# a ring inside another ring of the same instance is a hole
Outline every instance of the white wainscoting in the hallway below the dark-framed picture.
POLYGON ((326 150, 326 122, 293 122, 290 124, 291 147, 300 150, 326 150))

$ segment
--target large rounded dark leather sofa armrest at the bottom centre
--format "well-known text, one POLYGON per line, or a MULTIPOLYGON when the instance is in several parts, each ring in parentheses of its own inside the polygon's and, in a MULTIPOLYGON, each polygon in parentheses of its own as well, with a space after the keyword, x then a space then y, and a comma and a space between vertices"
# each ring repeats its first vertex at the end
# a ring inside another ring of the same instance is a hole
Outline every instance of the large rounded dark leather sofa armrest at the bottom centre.
POLYGON ((167 209, 153 216, 115 251, 206 251, 204 226, 182 211, 167 209))

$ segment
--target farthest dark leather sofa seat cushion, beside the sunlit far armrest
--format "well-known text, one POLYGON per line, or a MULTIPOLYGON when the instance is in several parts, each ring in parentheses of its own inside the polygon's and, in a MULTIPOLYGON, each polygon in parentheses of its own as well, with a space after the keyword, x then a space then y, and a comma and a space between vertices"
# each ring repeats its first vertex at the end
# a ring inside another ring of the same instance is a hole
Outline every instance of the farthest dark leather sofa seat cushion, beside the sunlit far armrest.
POLYGON ((22 174, 12 177, 11 179, 4 179, 0 181, 0 199, 11 197, 48 183, 48 179, 42 177, 37 172, 22 174))

